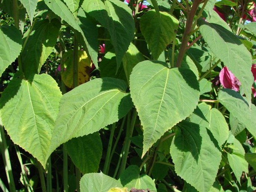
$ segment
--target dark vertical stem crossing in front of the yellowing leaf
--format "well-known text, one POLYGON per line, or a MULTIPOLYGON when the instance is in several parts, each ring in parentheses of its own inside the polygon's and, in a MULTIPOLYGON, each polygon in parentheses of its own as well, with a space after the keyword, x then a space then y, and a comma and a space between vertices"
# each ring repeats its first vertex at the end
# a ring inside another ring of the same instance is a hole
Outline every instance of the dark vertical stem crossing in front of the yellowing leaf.
POLYGON ((77 34, 74 35, 74 50, 73 50, 73 88, 78 86, 78 41, 77 34))

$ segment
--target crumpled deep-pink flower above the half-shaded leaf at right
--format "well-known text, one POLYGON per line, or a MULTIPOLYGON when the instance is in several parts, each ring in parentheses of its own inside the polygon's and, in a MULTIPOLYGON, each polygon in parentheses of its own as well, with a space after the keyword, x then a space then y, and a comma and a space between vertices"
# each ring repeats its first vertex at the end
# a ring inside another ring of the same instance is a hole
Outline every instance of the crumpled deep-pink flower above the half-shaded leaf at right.
POLYGON ((233 89, 236 92, 239 91, 241 83, 226 66, 221 69, 219 80, 224 88, 233 89))

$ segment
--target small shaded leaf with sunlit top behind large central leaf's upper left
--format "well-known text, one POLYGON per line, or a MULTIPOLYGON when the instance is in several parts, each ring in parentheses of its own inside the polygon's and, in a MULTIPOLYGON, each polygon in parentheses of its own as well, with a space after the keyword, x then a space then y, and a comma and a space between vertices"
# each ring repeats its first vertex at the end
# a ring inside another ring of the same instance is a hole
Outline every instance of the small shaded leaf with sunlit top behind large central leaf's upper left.
POLYGON ((129 49, 124 54, 123 57, 123 66, 124 66, 124 72, 126 74, 126 78, 128 82, 130 81, 130 74, 132 73, 132 69, 135 65, 137 65, 139 62, 144 61, 144 57, 139 52, 137 47, 134 44, 130 44, 129 49))

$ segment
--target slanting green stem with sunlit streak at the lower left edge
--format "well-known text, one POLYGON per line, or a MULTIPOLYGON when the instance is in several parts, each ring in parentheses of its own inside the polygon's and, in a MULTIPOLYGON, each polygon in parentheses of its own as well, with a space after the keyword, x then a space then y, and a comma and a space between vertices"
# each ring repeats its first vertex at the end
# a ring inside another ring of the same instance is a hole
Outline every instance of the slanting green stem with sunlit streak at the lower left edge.
POLYGON ((2 125, 0 125, 0 134, 1 134, 1 137, 0 137, 1 152, 2 152, 3 162, 4 162, 4 168, 7 176, 7 181, 9 184, 9 189, 10 189, 10 192, 16 192, 15 183, 14 183, 13 174, 12 174, 10 156, 9 156, 9 152, 6 144, 5 135, 4 135, 4 128, 2 125))

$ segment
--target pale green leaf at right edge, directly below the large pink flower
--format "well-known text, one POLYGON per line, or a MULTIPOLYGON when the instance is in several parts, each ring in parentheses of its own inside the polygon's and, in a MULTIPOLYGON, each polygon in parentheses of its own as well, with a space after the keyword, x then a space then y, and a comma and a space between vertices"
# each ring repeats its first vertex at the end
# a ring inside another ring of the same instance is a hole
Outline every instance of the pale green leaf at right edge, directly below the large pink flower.
POLYGON ((237 118, 250 131, 253 137, 256 138, 255 117, 256 106, 248 103, 239 93, 231 89, 222 89, 219 91, 219 102, 228 109, 235 118, 237 118))

